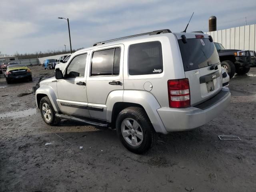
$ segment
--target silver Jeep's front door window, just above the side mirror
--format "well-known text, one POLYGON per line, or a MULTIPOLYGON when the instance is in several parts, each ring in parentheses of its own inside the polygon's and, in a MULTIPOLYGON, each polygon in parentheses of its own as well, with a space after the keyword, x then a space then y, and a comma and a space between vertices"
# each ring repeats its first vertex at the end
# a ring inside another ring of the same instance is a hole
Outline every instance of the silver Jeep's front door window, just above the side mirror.
POLYGON ((81 54, 72 59, 66 70, 65 77, 84 77, 86 54, 81 54))

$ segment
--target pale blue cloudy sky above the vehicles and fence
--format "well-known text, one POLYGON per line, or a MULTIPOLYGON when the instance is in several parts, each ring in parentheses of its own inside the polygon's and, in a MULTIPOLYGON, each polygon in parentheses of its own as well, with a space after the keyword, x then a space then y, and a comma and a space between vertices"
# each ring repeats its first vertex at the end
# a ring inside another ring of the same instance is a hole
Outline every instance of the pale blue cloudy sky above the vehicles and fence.
POLYGON ((34 53, 158 29, 208 31, 208 18, 217 17, 217 29, 256 23, 255 0, 1 0, 0 52, 34 53))

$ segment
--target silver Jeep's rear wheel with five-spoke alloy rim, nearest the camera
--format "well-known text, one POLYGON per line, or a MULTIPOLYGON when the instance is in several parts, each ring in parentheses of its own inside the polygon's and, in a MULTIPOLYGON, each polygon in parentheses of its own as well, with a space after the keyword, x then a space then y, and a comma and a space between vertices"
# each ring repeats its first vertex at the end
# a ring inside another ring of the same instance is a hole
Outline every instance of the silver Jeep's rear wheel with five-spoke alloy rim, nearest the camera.
POLYGON ((148 151, 157 141, 146 112, 139 107, 129 107, 118 114, 116 132, 122 144, 136 154, 148 151))

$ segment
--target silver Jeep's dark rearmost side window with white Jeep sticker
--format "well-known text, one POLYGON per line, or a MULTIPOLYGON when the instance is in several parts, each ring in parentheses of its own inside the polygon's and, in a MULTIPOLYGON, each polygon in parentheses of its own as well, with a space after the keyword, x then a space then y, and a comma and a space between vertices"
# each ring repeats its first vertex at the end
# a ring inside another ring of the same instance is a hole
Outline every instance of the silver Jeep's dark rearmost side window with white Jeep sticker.
POLYGON ((128 68, 130 75, 159 74, 163 72, 160 42, 130 45, 128 68))

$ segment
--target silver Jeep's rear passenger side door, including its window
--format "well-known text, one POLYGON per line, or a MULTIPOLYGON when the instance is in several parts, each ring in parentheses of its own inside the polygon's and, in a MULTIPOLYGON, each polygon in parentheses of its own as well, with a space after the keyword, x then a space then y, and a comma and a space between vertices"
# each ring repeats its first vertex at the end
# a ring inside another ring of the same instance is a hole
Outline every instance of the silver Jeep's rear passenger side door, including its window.
POLYGON ((106 120, 108 95, 115 90, 124 90, 123 57, 123 44, 91 51, 86 88, 92 118, 106 120))

